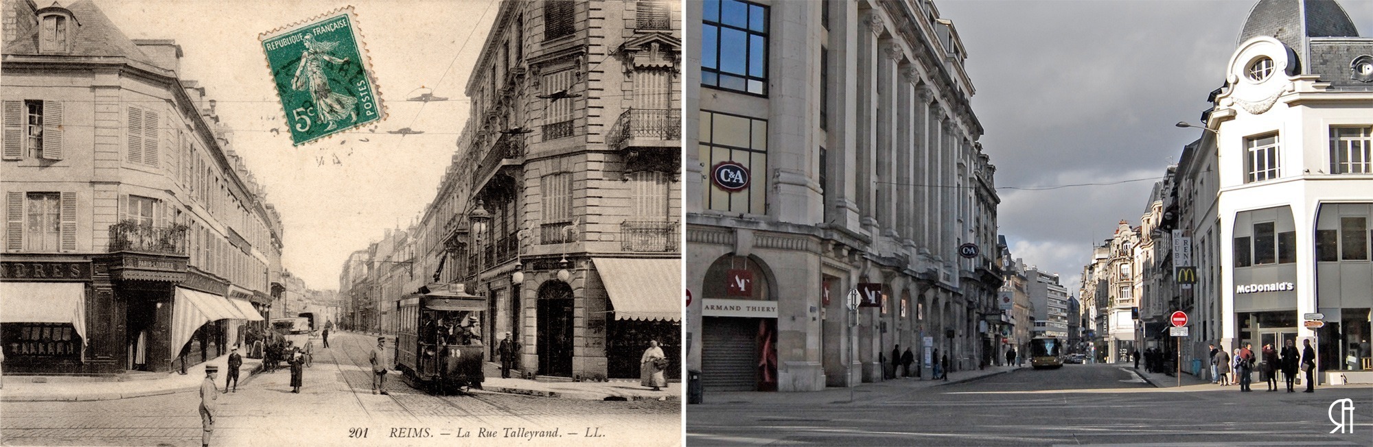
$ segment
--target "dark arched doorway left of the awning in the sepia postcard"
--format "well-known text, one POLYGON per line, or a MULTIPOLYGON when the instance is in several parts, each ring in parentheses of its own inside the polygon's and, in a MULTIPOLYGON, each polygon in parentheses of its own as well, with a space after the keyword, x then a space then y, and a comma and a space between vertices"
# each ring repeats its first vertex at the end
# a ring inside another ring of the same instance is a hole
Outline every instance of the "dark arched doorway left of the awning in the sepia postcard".
POLYGON ((573 376, 573 287, 548 281, 538 288, 538 374, 573 376))

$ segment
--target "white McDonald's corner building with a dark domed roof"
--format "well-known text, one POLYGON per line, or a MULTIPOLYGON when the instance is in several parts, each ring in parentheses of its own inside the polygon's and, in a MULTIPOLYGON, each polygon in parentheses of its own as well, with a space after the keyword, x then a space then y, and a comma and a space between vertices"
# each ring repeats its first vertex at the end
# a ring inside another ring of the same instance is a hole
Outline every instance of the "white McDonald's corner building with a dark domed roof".
POLYGON ((1336 1, 1262 0, 1225 78, 1197 151, 1218 167, 1218 347, 1311 339, 1318 380, 1373 380, 1373 38, 1336 1))

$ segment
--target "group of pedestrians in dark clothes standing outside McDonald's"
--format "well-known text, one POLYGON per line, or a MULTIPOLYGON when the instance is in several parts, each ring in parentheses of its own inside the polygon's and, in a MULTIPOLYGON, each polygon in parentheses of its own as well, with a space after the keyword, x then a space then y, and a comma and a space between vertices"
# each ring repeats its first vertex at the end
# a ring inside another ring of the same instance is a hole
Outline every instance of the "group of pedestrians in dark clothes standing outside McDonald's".
POLYGON ((1287 378, 1287 391, 1296 392, 1293 383, 1297 372, 1306 373, 1306 391, 1315 392, 1315 350, 1311 340, 1302 340, 1302 351, 1296 350, 1296 343, 1287 340, 1281 351, 1273 344, 1265 344, 1263 351, 1255 354, 1252 343, 1229 354, 1211 344, 1211 383, 1222 387, 1240 385, 1240 391, 1248 392, 1252 383, 1252 373, 1259 372, 1259 378, 1269 387, 1267 391, 1278 391, 1277 374, 1281 372, 1287 378))

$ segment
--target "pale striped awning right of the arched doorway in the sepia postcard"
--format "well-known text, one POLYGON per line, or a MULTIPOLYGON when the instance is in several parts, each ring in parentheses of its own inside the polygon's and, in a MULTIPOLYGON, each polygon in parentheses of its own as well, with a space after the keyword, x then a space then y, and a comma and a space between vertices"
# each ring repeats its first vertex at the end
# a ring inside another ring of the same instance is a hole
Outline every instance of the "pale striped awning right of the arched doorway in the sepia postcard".
POLYGON ((605 293, 615 306, 615 319, 682 318, 681 259, 592 258, 605 293))

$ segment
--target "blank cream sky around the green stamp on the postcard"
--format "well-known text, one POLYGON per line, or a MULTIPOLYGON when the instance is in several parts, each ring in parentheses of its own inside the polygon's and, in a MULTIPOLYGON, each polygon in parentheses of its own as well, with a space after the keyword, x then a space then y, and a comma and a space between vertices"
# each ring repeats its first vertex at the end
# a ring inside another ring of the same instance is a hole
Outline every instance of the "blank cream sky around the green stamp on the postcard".
POLYGON ((434 199, 467 119, 467 74, 497 10, 494 0, 95 1, 129 38, 181 45, 181 78, 218 101, 233 148, 281 213, 284 266, 316 289, 338 288, 350 252, 408 226, 434 199), (389 117, 376 133, 292 147, 258 34, 349 4, 389 117), (424 92, 449 100, 405 101, 424 92), (424 133, 386 133, 400 128, 424 133))

